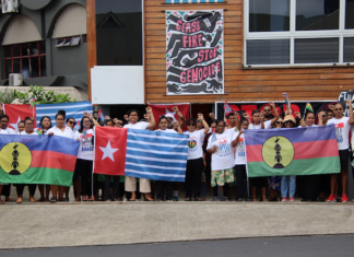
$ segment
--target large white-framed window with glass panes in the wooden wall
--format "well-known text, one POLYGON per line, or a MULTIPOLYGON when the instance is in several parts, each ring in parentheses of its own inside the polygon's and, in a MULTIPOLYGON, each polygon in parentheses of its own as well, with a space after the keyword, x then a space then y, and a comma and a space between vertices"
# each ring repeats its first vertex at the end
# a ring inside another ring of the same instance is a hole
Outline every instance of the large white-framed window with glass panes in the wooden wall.
POLYGON ((354 0, 246 0, 246 67, 354 65, 354 0))

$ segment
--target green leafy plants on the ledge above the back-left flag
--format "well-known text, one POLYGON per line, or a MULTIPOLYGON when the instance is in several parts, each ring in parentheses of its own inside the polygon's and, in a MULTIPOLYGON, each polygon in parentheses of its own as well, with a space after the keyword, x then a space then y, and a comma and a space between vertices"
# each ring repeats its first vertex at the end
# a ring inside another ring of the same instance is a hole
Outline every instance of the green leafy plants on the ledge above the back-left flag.
POLYGON ((57 94, 54 91, 45 92, 43 86, 33 86, 25 93, 15 92, 16 98, 20 100, 22 104, 31 104, 32 97, 35 97, 34 104, 61 104, 76 102, 76 98, 71 100, 69 94, 57 94))

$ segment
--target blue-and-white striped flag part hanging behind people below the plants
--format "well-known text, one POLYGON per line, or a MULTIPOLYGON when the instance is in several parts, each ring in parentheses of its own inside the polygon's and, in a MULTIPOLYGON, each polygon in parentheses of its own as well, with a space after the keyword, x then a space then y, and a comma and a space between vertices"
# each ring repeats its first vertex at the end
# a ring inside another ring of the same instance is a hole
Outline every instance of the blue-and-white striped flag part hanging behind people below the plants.
POLYGON ((72 117, 78 121, 81 121, 83 113, 93 113, 93 106, 90 101, 63 103, 63 104, 38 104, 36 105, 36 122, 39 126, 39 121, 43 116, 48 116, 51 119, 51 126, 56 125, 56 114, 59 109, 63 109, 67 113, 67 118, 72 117))

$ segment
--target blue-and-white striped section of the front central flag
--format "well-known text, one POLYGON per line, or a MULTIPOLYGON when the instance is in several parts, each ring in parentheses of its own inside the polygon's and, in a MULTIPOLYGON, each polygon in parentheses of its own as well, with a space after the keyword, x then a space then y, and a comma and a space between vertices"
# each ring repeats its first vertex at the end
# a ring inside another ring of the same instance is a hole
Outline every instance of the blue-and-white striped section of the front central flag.
POLYGON ((126 176, 185 182, 188 135, 128 129, 126 176))

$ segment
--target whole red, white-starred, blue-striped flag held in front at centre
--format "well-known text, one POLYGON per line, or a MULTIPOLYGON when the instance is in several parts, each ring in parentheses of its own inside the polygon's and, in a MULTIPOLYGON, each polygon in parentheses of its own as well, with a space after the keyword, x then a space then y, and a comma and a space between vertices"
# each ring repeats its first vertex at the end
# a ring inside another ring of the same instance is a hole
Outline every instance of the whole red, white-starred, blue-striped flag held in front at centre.
POLYGON ((94 173, 184 182, 189 137, 141 129, 95 128, 94 173))

